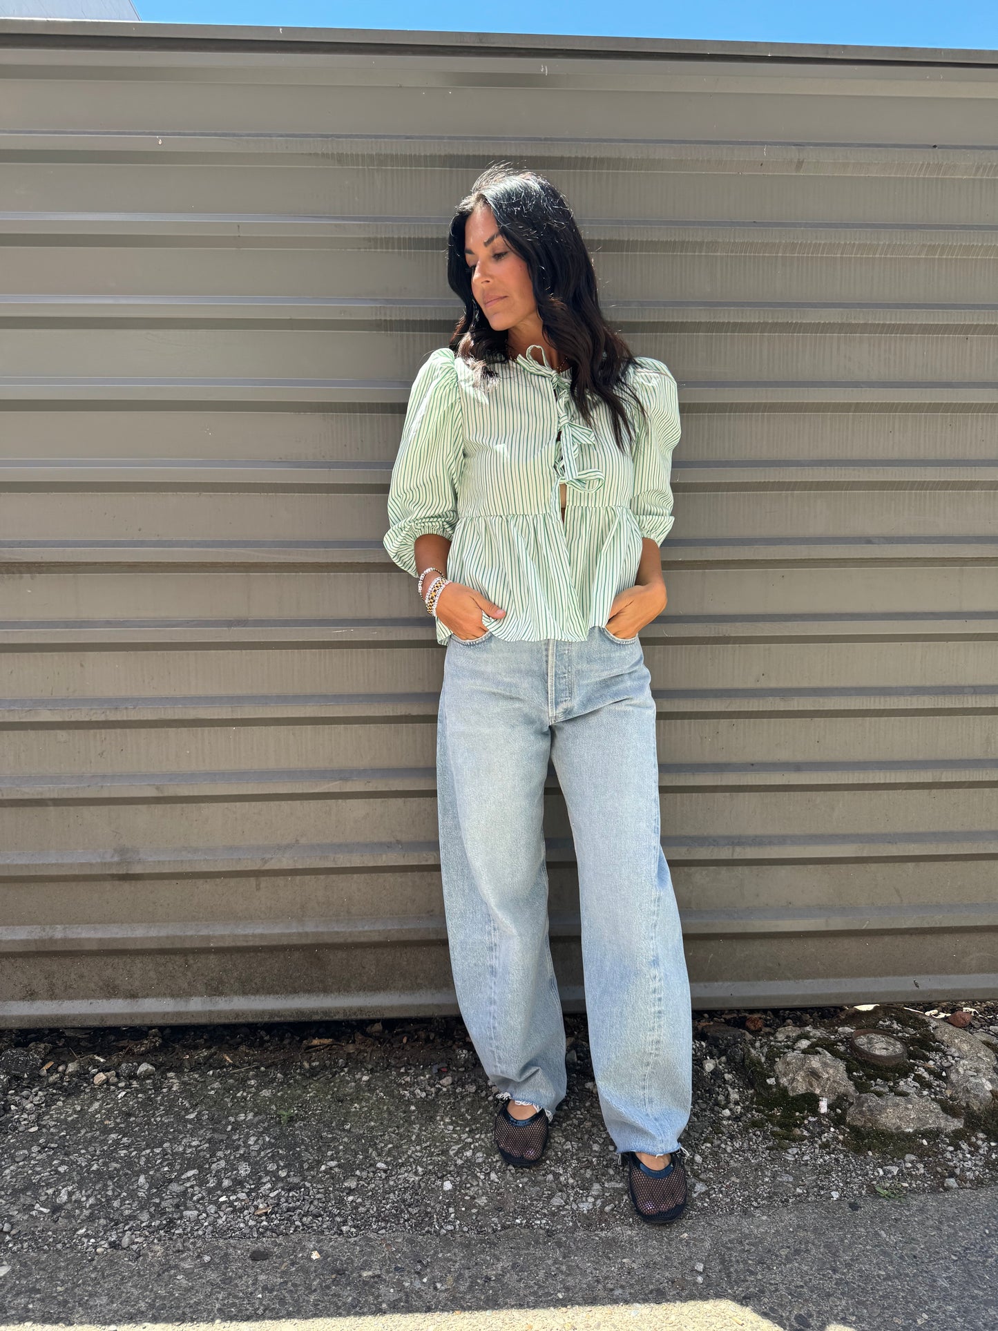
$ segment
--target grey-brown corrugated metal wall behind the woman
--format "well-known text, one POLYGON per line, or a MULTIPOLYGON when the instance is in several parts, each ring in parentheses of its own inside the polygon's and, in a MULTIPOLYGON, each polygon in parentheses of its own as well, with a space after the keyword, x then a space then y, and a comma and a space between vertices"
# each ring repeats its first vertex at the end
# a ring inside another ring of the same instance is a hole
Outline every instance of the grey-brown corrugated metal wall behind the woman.
MULTIPOLYGON (((643 631, 695 1002, 998 992, 998 56, 0 24, 0 1021, 452 1012, 381 538, 454 202, 680 385, 643 631)), ((551 776, 552 938, 582 1002, 551 776)))

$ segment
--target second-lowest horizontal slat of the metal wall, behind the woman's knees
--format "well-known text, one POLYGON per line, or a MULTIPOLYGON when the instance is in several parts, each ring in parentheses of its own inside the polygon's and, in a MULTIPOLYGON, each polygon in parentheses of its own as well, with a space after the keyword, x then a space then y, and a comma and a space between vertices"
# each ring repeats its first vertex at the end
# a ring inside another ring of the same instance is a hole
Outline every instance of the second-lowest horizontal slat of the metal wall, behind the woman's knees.
MULTIPOLYGON (((548 884, 552 916, 578 916, 578 873, 564 839, 552 845, 548 884)), ((900 929, 900 912, 909 908, 913 918, 942 918, 950 909, 967 918, 986 913, 993 900, 994 865, 985 856, 953 852, 935 857, 881 856, 874 861, 813 858, 804 872, 800 862, 757 856, 676 864, 675 884, 684 921, 692 925, 703 912, 715 921, 728 920, 729 933, 739 932, 739 920, 757 918, 762 932, 786 932, 778 922, 798 920, 805 930, 805 925, 813 929, 821 918, 858 918, 881 909, 900 929)), ((12 912, 5 928, 51 930, 80 925, 137 936, 146 928, 176 926, 181 933, 236 920, 263 930, 287 929, 302 920, 323 920, 325 928, 338 921, 345 930, 362 924, 365 929, 375 928, 381 920, 387 921, 383 928, 394 929, 398 921, 443 916, 440 877, 432 862, 402 870, 386 864, 286 874, 275 865, 251 876, 234 872, 173 877, 121 876, 112 866, 85 880, 59 872, 44 878, 12 877, 4 881, 3 893, 12 912)))

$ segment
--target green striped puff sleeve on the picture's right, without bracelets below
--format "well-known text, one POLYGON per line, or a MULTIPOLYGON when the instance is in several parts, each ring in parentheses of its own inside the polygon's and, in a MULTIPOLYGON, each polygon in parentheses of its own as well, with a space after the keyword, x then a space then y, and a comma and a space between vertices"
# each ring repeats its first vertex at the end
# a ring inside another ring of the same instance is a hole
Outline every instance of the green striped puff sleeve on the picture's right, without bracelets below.
POLYGON ((647 413, 639 415, 633 443, 635 463, 631 512, 637 519, 641 536, 661 544, 675 518, 672 516, 672 450, 679 443, 679 391, 668 366, 651 357, 641 357, 635 382, 647 413))

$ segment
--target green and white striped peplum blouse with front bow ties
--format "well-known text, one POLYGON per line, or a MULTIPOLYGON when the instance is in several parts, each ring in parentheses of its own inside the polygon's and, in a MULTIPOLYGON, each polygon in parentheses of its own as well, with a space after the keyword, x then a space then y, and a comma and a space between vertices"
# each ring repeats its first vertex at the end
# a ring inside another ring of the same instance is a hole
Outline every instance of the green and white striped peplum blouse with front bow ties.
MULTIPOLYGON (((635 584, 641 540, 661 544, 673 522, 676 381, 651 357, 637 357, 631 375, 648 419, 628 406, 637 435, 621 451, 605 402, 595 399, 589 429, 571 371, 546 355, 518 355, 475 387, 450 347, 432 351, 413 383, 391 470, 383 543, 394 562, 415 578, 415 538, 448 538, 447 576, 506 611, 483 611, 496 638, 583 642, 605 626, 616 594, 635 584)), ((438 643, 450 636, 438 619, 438 643)))

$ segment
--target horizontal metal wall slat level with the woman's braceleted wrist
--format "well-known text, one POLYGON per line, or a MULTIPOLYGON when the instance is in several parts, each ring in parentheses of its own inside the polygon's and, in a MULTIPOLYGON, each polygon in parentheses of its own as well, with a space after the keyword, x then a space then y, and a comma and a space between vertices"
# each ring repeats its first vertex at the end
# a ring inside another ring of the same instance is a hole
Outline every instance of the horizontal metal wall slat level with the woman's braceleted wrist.
MULTIPOLYGON (((17 586, 8 562, 7 575, 0 575, 0 587, 11 587, 4 600, 12 616, 0 619, 0 643, 51 642, 52 634, 65 632, 93 642, 117 634, 129 640, 150 635, 205 643, 313 639, 358 647, 422 640, 432 631, 414 600, 415 583, 399 571, 385 571, 383 550, 326 548, 323 558, 309 558, 318 554, 314 547, 285 547, 277 555, 265 547, 267 559, 259 547, 240 543, 224 551, 192 544, 181 550, 185 558, 174 550, 177 558, 169 559, 152 555, 169 555, 170 547, 153 551, 132 542, 110 550, 106 544, 76 547, 71 563, 77 567, 64 579, 45 572, 37 550, 33 560, 23 550, 21 562, 37 574, 17 586), (132 558, 136 550, 146 558, 132 558), (254 550, 255 559, 250 558, 254 550), (100 567, 101 551, 116 555, 105 568, 100 567), (275 570, 279 555, 285 567, 275 570), (144 564, 161 566, 153 580, 154 606, 144 564), (378 618, 373 618, 375 607, 378 618)), ((919 622, 929 638, 945 627, 959 636, 990 634, 998 614, 995 554, 991 539, 973 544, 862 538, 833 546, 673 544, 663 559, 669 606, 643 630, 641 640, 653 646, 660 634, 676 642, 689 640, 693 632, 757 638, 774 631, 794 638, 857 632, 894 638, 917 631, 919 622)))

